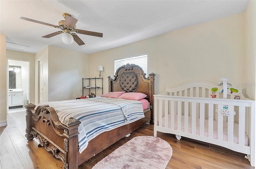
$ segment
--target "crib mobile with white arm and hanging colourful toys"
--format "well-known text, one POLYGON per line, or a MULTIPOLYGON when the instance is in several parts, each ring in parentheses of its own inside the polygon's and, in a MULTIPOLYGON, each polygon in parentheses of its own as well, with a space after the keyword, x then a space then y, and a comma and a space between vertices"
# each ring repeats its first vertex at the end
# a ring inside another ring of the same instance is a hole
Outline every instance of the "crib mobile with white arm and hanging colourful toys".
MULTIPOLYGON (((228 81, 227 78, 221 78, 220 80, 221 80, 221 82, 217 86, 223 86, 223 89, 221 90, 221 93, 223 93, 223 98, 227 98, 227 92, 228 92, 227 90, 228 89, 230 89, 230 93, 233 93, 233 92, 237 93, 238 92, 238 90, 234 86, 232 86, 230 83, 227 83, 227 81, 228 81), (228 88, 228 87, 231 87, 231 88, 228 88)), ((212 88, 212 92, 216 92, 216 91, 218 91, 218 88, 215 86, 215 87, 212 88)), ((212 98, 216 98, 216 95, 211 94, 211 96, 212 96, 212 98)), ((234 99, 240 99, 240 96, 236 95, 234 97, 234 99)), ((218 113, 218 110, 216 109, 215 112, 218 113)), ((220 113, 223 116, 229 116, 230 111, 228 110, 228 105, 223 105, 223 109, 221 110, 220 113)), ((234 116, 236 115, 235 111, 233 112, 233 115, 234 116)))

